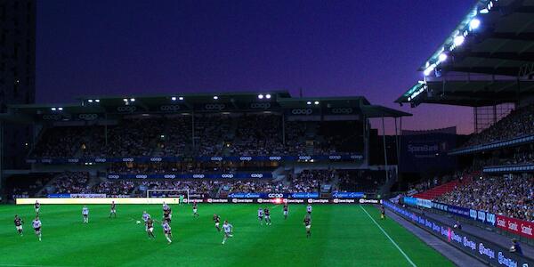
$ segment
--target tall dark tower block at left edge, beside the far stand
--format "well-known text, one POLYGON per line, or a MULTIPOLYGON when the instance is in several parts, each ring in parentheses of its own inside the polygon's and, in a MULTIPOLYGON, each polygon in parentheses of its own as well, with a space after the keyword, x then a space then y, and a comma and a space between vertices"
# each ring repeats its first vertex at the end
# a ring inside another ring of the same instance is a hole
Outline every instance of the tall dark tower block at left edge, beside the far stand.
MULTIPOLYGON (((36 1, 0 0, 0 113, 30 104, 36 95, 36 1)), ((29 126, 2 123, 2 169, 24 167, 29 126)))

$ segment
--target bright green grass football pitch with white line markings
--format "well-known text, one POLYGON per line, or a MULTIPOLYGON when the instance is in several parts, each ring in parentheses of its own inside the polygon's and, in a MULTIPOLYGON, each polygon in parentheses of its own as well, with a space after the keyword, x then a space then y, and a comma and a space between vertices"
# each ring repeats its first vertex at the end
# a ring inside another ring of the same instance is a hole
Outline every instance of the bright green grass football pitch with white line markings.
POLYGON ((190 205, 173 208, 173 244, 167 245, 161 226, 148 239, 142 211, 161 219, 161 205, 118 205, 117 219, 109 219, 108 205, 89 206, 89 224, 82 223, 82 206, 41 206, 43 241, 31 221, 33 206, 0 206, 0 266, 452 266, 392 219, 379 219, 374 206, 315 205, 312 238, 303 227, 304 205, 290 205, 284 220, 282 206, 271 207, 272 225, 260 225, 258 205, 190 205), (373 223, 376 220, 401 250, 373 223), (229 220, 234 237, 222 245, 213 214, 229 220), (14 214, 25 221, 20 237, 14 214), (409 260, 407 259, 409 258, 409 260))

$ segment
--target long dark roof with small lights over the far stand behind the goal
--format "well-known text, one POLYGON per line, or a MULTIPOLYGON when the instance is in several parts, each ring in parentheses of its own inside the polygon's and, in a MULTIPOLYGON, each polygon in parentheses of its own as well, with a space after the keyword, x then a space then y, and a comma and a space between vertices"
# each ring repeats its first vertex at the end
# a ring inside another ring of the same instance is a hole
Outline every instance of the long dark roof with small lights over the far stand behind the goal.
POLYGON ((341 116, 359 112, 365 117, 411 116, 411 114, 400 110, 371 105, 362 96, 294 98, 287 91, 88 96, 77 100, 79 102, 69 104, 10 105, 8 106, 8 113, 0 114, 0 119, 31 123, 39 119, 71 120, 84 114, 103 117, 104 114, 122 116, 190 112, 281 112, 288 109, 312 109, 314 110, 313 114, 316 114, 317 111, 317 114, 341 116), (344 108, 349 108, 350 112, 347 112, 349 109, 345 110, 344 108))

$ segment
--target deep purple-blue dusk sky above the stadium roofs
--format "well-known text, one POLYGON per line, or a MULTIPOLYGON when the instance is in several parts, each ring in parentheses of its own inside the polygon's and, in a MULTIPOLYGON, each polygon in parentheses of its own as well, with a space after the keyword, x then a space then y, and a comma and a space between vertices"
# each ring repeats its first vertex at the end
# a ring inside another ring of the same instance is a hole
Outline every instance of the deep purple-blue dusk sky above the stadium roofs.
POLYGON ((472 109, 393 101, 452 32, 471 0, 103 1, 37 4, 38 102, 101 94, 288 90, 363 95, 414 117, 403 128, 457 125, 472 109))

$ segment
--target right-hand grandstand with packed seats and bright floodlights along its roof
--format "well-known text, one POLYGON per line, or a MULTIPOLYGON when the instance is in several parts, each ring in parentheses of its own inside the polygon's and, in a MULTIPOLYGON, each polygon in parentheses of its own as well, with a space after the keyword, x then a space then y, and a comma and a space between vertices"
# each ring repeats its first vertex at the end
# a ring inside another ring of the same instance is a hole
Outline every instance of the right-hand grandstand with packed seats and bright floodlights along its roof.
MULTIPOLYGON (((427 178, 401 202, 433 218, 534 244, 534 16, 529 1, 478 1, 396 102, 473 108, 473 134, 447 153, 457 171, 427 178), (506 107, 506 108, 503 108, 506 107), (480 227, 480 228, 478 228, 480 227)), ((401 174, 402 175, 402 174, 401 174)), ((497 241, 498 242, 498 241, 497 241)), ((501 241, 506 246, 506 241, 501 241)), ((532 248, 527 246, 531 253, 532 248)))

